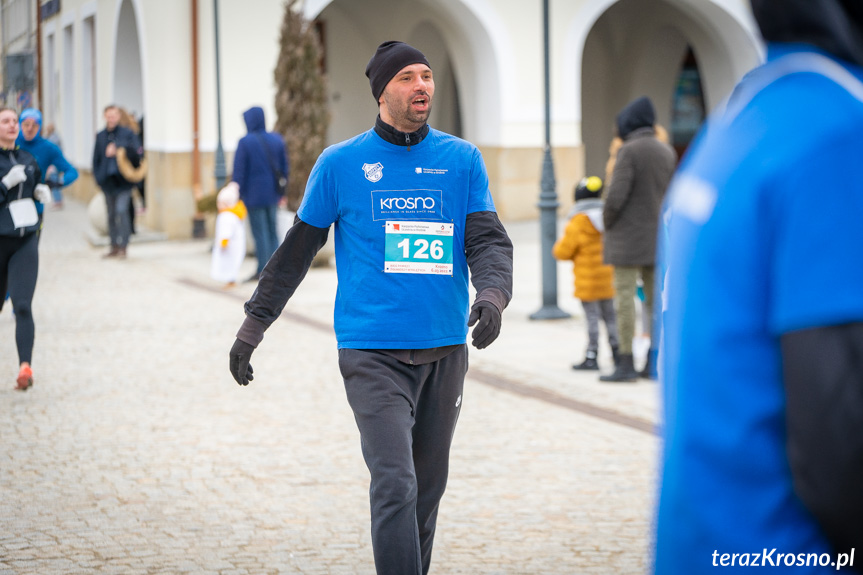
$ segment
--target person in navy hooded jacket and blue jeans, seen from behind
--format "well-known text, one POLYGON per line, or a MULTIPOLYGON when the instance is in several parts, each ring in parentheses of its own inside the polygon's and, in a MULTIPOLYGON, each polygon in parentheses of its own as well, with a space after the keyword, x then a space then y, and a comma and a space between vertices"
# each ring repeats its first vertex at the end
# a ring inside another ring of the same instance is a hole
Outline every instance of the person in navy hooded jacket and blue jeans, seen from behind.
POLYGON ((257 280, 279 247, 276 210, 284 201, 279 180, 288 177, 288 154, 282 136, 267 132, 263 108, 249 108, 243 112, 243 119, 249 133, 237 144, 231 179, 240 186, 240 199, 249 210, 258 259, 258 269, 249 279, 257 280))

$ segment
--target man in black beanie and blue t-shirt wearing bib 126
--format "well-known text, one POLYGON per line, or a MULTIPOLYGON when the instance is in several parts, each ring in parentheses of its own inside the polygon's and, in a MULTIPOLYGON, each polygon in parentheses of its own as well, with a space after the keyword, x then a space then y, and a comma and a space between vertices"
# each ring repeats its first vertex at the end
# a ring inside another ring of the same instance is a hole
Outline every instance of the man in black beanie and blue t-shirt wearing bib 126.
POLYGON ((294 226, 246 302, 230 369, 240 385, 252 380, 253 350, 333 226, 334 327, 371 474, 375 566, 419 575, 429 569, 446 487, 468 327, 476 325, 478 349, 500 333, 512 243, 479 150, 428 126, 435 85, 425 56, 385 42, 366 76, 375 126, 318 158, 294 226))

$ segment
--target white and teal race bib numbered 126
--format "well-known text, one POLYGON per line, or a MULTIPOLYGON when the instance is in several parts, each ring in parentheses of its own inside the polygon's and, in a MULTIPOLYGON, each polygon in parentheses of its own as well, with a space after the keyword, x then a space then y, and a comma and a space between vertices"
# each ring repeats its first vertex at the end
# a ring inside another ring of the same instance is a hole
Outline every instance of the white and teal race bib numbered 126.
POLYGON ((387 222, 384 271, 452 275, 453 224, 387 222))

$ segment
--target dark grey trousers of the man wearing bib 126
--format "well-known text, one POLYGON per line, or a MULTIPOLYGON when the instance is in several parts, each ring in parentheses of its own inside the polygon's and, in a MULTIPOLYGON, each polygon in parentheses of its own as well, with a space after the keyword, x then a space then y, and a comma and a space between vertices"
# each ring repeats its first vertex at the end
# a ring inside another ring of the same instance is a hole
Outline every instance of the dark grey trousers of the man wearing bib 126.
POLYGON ((466 345, 424 365, 370 350, 339 350, 371 474, 378 575, 428 573, 467 367, 466 345))

